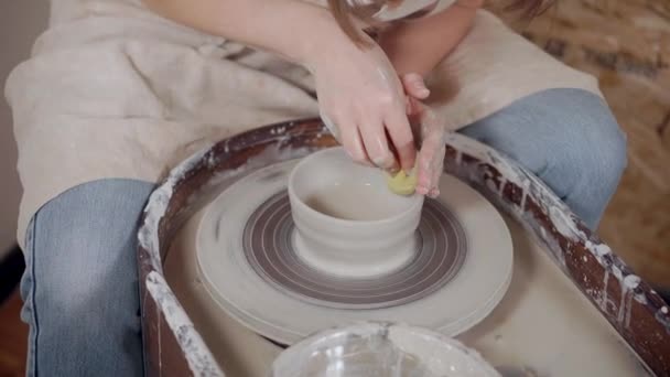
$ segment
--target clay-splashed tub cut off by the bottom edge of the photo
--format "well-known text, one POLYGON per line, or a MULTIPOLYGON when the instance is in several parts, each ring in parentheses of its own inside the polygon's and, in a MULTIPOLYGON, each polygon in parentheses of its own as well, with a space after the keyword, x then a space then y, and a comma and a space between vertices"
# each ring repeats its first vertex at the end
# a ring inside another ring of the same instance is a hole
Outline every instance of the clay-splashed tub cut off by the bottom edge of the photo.
POLYGON ((442 334, 400 324, 361 323, 317 333, 282 352, 271 377, 493 377, 474 349, 442 334))

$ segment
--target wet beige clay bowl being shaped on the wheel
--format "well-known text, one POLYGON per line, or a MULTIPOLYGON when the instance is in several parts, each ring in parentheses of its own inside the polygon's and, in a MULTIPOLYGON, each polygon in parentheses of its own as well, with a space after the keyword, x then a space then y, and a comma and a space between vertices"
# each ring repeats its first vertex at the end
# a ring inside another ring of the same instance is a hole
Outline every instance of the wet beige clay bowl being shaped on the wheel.
POLYGON ((341 147, 313 153, 289 176, 296 254, 339 277, 402 268, 417 251, 422 195, 391 193, 385 173, 354 163, 341 147))

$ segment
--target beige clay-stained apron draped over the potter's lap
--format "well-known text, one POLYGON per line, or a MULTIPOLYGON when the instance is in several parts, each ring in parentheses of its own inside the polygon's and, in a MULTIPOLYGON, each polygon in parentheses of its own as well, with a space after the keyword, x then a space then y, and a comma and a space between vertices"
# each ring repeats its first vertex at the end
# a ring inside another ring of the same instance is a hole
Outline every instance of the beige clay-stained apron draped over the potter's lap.
MULTIPOLYGON (((430 77, 453 130, 555 87, 599 95, 576 72, 479 11, 430 77)), ((52 0, 48 30, 8 78, 24 187, 18 239, 33 214, 85 182, 156 182, 221 138, 317 116, 302 67, 161 19, 139 0, 52 0)))

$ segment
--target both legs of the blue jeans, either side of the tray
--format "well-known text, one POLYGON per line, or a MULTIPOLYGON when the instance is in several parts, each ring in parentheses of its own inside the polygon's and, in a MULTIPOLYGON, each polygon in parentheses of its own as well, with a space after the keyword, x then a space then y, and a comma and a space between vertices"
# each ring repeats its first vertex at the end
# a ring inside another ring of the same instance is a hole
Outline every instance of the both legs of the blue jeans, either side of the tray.
MULTIPOLYGON (((624 134, 585 91, 536 94, 462 132, 538 174, 594 228, 626 165, 624 134)), ((29 375, 142 374, 136 233, 152 187, 90 182, 33 217, 21 284, 29 375)))

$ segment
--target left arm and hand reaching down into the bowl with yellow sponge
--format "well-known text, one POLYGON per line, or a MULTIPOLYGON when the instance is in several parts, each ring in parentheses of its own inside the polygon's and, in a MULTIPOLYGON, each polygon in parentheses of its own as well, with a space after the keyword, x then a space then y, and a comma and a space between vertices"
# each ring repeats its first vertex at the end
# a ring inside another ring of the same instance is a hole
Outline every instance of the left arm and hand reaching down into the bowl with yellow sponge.
POLYGON ((414 164, 398 74, 375 42, 358 47, 328 9, 302 0, 142 1, 168 19, 307 67, 321 114, 354 160, 389 170, 414 164))

